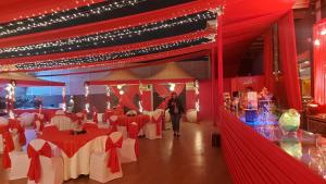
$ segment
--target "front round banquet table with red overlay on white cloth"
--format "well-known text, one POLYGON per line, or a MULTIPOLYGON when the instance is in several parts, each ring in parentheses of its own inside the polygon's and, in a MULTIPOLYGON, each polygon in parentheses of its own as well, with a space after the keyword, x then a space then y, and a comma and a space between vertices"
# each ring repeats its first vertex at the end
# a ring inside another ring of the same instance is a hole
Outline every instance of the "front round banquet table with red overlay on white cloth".
POLYGON ((110 128, 88 130, 86 134, 71 135, 70 131, 43 134, 39 138, 60 148, 63 158, 64 181, 89 174, 90 156, 95 151, 104 151, 110 128))

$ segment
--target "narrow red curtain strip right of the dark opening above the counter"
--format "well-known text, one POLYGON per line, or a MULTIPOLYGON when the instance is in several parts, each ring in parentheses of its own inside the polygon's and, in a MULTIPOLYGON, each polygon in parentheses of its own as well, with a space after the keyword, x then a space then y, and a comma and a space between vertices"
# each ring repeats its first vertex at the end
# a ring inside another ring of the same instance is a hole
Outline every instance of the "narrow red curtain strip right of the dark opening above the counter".
POLYGON ((274 94, 274 75, 273 75, 273 32, 272 28, 264 37, 264 76, 265 86, 274 94))

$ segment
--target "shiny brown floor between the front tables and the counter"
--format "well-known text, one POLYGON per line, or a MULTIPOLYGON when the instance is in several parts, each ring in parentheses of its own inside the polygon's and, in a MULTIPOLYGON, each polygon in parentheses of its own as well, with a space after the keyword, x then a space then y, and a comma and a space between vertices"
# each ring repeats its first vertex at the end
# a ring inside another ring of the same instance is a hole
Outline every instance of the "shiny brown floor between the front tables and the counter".
MULTIPOLYGON (((209 123, 205 123, 209 124, 209 123)), ((231 180, 220 148, 212 148, 213 127, 203 124, 181 124, 181 137, 172 131, 164 138, 140 139, 138 162, 124 164, 124 176, 110 184, 230 184, 231 180)), ((25 184, 26 180, 8 182, 0 167, 0 184, 25 184)), ((65 184, 97 184, 88 176, 65 184)))

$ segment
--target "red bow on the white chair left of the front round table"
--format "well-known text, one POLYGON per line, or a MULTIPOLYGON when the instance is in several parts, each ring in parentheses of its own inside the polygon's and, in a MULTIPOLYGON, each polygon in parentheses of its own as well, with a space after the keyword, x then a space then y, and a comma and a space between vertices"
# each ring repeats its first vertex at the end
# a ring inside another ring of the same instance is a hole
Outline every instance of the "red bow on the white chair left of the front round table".
POLYGON ((39 156, 51 158, 52 157, 51 146, 49 145, 49 143, 45 143, 41 149, 35 150, 30 145, 28 145, 27 155, 28 158, 30 158, 27 176, 29 180, 35 181, 35 183, 38 183, 39 179, 41 177, 40 175, 41 165, 40 165, 39 156))

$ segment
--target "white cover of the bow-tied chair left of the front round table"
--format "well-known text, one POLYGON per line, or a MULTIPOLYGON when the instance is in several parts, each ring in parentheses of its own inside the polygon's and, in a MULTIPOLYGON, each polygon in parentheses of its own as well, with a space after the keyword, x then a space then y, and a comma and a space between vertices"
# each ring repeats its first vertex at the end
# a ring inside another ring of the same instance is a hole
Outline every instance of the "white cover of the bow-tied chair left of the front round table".
MULTIPOLYGON (((39 150, 45 143, 43 139, 34 139, 29 145, 35 150, 39 150)), ((40 156, 41 175, 39 184, 61 184, 63 182, 63 159, 59 157, 60 149, 51 143, 49 145, 52 149, 52 158, 40 156)), ((35 181, 28 180, 27 184, 35 184, 35 181)))

